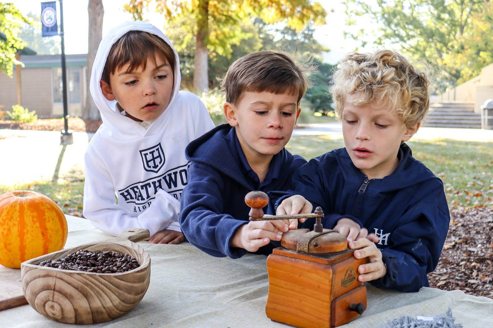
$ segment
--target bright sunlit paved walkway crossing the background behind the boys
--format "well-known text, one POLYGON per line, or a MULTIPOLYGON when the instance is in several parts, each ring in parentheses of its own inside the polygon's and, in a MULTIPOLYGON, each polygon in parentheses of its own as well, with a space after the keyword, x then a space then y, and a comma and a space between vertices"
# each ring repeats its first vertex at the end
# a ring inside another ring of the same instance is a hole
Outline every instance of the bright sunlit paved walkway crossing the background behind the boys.
MULTIPOLYGON (((0 185, 63 178, 84 170, 84 153, 93 134, 73 133, 73 145, 60 145, 60 132, 0 129, 0 185), (5 138, 6 137, 6 138, 5 138)), ((294 136, 342 139, 341 123, 307 124, 294 136)), ((455 139, 493 142, 493 130, 423 127, 412 140, 455 139)))

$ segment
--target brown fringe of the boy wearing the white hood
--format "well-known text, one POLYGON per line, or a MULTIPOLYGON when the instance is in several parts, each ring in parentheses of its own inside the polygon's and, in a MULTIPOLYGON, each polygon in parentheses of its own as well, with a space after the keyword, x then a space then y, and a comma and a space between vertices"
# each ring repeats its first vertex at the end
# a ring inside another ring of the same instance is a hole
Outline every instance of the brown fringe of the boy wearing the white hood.
POLYGON ((109 86, 109 76, 114 74, 117 69, 130 64, 127 72, 131 72, 138 67, 142 67, 145 70, 147 59, 151 58, 156 64, 156 55, 162 60, 168 61, 174 75, 175 53, 168 43, 159 36, 148 32, 128 31, 109 50, 101 79, 109 86))

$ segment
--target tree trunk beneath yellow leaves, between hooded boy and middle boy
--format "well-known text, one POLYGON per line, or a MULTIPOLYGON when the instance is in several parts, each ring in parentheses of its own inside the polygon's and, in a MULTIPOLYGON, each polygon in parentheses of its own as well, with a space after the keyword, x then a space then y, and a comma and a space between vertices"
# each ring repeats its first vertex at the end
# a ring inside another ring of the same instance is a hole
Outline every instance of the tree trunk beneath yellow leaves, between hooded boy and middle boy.
POLYGON ((200 0, 197 15, 193 89, 197 95, 209 91, 207 40, 209 36, 209 0, 200 0))

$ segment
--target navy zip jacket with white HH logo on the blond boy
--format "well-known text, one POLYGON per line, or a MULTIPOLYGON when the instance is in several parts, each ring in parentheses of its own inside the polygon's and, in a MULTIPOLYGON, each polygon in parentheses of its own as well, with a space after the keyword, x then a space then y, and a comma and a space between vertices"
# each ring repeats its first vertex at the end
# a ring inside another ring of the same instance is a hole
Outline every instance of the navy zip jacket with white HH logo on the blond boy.
MULTIPOLYGON (((290 193, 302 195, 314 208, 320 206, 325 228, 350 217, 377 234, 387 274, 372 285, 418 292, 429 286, 426 274, 438 264, 450 214, 442 181, 412 157, 406 144, 401 144, 399 158, 391 175, 370 179, 365 186, 366 176, 346 149, 335 149, 302 166, 290 193)), ((272 201, 278 205, 283 198, 272 201)), ((307 220, 303 227, 313 229, 314 223, 307 220)))

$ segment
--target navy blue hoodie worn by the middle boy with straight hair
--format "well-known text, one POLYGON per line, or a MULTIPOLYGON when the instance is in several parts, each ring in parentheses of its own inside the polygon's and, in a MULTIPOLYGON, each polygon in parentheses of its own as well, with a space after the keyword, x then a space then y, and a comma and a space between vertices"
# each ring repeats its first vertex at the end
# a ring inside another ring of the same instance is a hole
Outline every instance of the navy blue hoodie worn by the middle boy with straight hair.
MULTIPOLYGON (((282 149, 272 158, 260 183, 246 161, 235 128, 229 124, 216 126, 192 141, 185 155, 191 165, 188 184, 181 194, 181 231, 204 252, 231 258, 247 253, 243 248, 229 246, 238 228, 248 223, 250 208, 245 204, 245 195, 252 190, 290 189, 294 172, 307 162, 282 149)), ((271 243, 256 253, 270 254, 274 247, 271 243)))

